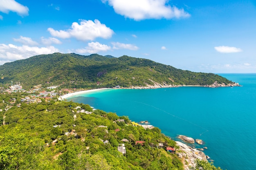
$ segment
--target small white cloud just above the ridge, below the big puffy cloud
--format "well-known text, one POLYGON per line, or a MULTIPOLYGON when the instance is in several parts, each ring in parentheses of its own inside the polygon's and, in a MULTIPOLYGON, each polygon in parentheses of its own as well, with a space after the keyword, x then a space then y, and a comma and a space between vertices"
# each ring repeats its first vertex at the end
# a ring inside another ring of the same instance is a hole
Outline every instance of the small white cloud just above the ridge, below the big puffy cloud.
POLYGON ((100 44, 99 42, 90 42, 85 49, 77 49, 77 53, 98 53, 100 51, 108 51, 111 47, 105 44, 100 44))

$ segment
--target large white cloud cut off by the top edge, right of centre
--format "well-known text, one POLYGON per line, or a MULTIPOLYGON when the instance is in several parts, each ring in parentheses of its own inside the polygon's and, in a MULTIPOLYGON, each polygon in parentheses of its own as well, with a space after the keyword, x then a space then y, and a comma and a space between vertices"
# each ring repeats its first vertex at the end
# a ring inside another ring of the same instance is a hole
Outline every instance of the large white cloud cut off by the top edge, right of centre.
POLYGON ((102 0, 108 2, 116 13, 134 20, 182 18, 190 14, 184 9, 167 4, 169 0, 102 0))

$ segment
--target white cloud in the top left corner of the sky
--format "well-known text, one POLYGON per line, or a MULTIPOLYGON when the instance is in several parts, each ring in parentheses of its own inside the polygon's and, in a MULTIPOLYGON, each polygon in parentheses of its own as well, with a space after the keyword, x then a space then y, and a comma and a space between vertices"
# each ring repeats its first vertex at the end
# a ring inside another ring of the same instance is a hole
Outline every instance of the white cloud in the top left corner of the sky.
POLYGON ((29 8, 16 2, 15 0, 0 0, 0 11, 3 13, 9 13, 9 11, 13 11, 21 16, 29 15, 29 8))

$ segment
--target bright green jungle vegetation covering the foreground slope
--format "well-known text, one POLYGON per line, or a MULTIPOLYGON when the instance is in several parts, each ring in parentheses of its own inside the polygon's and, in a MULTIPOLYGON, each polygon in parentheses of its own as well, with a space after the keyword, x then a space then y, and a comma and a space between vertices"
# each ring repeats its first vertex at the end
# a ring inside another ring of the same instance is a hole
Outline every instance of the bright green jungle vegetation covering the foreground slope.
MULTIPOLYGON (((175 141, 157 127, 150 130, 132 126, 126 116, 56 98, 9 107, 11 99, 16 98, 18 104, 24 95, 27 94, 0 94, 1 170, 183 169, 176 154, 158 147, 162 143, 177 149, 175 141), (136 141, 145 143, 136 144, 136 141), (118 151, 119 144, 125 145, 125 154, 118 151)), ((198 161, 197 167, 191 170, 220 168, 198 161)))

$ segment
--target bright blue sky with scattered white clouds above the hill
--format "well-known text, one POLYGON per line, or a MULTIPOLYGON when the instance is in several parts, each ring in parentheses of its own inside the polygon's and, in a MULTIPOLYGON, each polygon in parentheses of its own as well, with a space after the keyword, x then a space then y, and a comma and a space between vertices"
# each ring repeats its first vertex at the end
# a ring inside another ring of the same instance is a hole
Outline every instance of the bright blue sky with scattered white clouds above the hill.
POLYGON ((0 65, 55 52, 256 73, 256 0, 0 0, 0 65))

